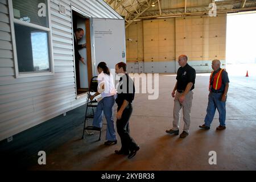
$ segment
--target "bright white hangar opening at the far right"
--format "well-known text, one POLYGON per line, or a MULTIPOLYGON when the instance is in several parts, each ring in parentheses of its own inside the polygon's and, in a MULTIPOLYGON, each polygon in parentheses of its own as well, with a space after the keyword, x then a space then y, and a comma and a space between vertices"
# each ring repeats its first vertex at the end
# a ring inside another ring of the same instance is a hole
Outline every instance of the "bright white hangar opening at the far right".
POLYGON ((256 11, 228 14, 226 69, 229 75, 256 76, 256 11))

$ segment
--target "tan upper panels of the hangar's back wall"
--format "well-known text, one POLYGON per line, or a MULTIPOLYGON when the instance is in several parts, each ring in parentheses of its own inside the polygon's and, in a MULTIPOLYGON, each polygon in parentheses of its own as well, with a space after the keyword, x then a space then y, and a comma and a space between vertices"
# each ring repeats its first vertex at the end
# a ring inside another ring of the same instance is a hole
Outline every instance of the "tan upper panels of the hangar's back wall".
MULTIPOLYGON (((181 2, 181 1, 180 1, 181 2)), ((184 3, 184 2, 183 2, 184 3)), ((146 62, 157 63, 177 59, 187 54, 189 60, 225 60, 226 15, 217 17, 186 16, 143 20, 140 29, 131 31, 129 36, 136 38, 137 44, 128 43, 134 52, 130 56, 143 57, 146 62), (139 33, 141 31, 141 33, 139 33), (141 36, 138 36, 141 35, 141 36)), ((136 26, 135 26, 136 27, 136 26)))

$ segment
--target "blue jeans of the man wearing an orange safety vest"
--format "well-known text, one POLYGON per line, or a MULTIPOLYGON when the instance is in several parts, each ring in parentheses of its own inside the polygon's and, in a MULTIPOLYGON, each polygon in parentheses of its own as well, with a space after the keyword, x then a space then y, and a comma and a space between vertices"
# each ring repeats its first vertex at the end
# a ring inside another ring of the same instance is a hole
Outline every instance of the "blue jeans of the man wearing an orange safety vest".
POLYGON ((226 102, 221 101, 223 93, 210 93, 208 97, 207 115, 204 119, 205 126, 209 126, 212 123, 216 108, 219 114, 219 121, 221 126, 225 126, 226 120, 226 102))

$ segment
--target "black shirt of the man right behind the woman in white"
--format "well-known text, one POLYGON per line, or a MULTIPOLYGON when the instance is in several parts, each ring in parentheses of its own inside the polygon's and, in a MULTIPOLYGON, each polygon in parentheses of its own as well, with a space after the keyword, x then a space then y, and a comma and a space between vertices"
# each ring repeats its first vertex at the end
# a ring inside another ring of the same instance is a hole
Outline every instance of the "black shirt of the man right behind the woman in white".
POLYGON ((135 86, 133 79, 131 79, 131 77, 125 74, 119 80, 117 88, 117 98, 115 102, 117 102, 118 106, 121 106, 124 100, 131 103, 134 100, 134 95, 135 86))

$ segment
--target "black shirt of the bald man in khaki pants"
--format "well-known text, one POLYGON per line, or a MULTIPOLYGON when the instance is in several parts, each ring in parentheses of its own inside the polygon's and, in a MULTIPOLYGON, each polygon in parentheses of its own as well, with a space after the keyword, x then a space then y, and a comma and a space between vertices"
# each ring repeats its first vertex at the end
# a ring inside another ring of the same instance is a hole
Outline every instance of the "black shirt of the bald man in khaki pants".
POLYGON ((195 88, 196 71, 190 65, 186 64, 184 67, 180 67, 177 70, 177 91, 185 90, 189 82, 193 83, 190 90, 195 88))

